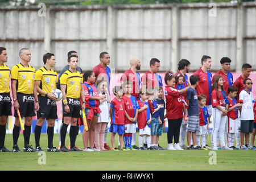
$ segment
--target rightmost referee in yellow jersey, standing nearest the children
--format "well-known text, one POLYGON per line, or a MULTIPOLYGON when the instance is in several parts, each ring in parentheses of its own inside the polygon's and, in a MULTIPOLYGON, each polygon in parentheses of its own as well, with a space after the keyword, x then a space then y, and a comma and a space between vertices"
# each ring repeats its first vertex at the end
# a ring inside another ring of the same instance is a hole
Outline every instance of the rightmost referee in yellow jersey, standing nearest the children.
POLYGON ((76 126, 77 119, 81 117, 81 109, 85 109, 85 96, 84 88, 82 87, 82 74, 76 71, 77 68, 77 56, 70 55, 68 57, 69 69, 63 73, 60 77, 60 89, 63 93, 63 118, 64 123, 61 127, 61 139, 60 139, 60 151, 81 151, 75 146, 76 142, 76 126), (80 97, 82 100, 82 108, 80 104, 80 97), (71 150, 65 147, 65 137, 69 123, 71 124, 69 130, 71 150))

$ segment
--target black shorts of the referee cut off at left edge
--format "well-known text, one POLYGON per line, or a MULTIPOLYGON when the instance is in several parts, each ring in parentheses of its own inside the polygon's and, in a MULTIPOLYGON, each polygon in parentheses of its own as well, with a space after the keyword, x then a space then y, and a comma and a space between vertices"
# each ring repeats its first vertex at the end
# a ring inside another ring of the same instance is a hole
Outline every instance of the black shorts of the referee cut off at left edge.
POLYGON ((11 113, 10 93, 0 93, 0 116, 2 115, 13 115, 11 113))

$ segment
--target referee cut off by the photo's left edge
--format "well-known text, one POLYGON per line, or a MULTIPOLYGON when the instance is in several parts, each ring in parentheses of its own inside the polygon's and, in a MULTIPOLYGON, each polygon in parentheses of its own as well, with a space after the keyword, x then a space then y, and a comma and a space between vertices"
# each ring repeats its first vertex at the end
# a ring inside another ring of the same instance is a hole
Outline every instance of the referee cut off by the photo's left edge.
POLYGON ((5 148, 6 123, 11 114, 10 69, 6 48, 0 47, 0 152, 10 152, 5 148))

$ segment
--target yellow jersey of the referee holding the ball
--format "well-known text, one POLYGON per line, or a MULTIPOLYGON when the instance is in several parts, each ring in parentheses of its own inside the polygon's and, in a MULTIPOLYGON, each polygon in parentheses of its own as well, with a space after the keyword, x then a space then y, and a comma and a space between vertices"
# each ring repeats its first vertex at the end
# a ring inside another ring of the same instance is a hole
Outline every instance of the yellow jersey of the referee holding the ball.
POLYGON ((58 82, 57 72, 53 69, 48 71, 46 67, 42 67, 36 71, 35 80, 41 81, 40 89, 46 93, 50 93, 56 89, 56 83, 58 82))

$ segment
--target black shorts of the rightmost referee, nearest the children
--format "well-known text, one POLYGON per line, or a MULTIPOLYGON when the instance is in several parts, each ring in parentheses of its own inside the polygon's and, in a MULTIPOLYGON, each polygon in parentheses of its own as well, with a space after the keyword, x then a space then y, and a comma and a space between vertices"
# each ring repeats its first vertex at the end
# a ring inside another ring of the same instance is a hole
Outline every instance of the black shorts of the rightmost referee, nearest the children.
POLYGON ((81 105, 79 98, 68 98, 69 113, 65 112, 65 106, 62 103, 63 117, 81 118, 81 105))

